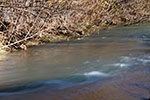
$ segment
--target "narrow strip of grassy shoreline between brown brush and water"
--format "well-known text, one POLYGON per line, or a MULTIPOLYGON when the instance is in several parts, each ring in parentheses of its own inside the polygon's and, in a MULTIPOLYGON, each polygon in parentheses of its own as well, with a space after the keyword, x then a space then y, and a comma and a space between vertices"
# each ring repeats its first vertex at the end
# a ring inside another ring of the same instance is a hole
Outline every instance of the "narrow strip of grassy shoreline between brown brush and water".
MULTIPOLYGON (((108 26, 108 27, 99 27, 97 29, 94 29, 91 31, 90 34, 86 35, 86 36, 78 36, 78 37, 68 37, 68 38, 59 38, 58 37, 58 40, 57 40, 57 37, 56 37, 56 40, 51 40, 51 41, 48 41, 48 42, 42 42, 42 43, 39 43, 38 41, 29 41, 27 44, 26 44, 26 47, 27 48, 30 48, 30 47, 34 47, 34 46, 42 46, 42 45, 45 45, 47 43, 59 43, 59 42, 69 42, 71 40, 82 40, 84 39, 85 37, 87 36, 91 36, 92 34, 95 34, 97 33, 98 31, 101 31, 101 30, 106 30, 106 29, 112 29, 112 28, 116 28, 116 27, 126 27, 126 26, 132 26, 132 25, 141 25, 141 24, 149 24, 150 22, 140 22, 140 23, 133 23, 133 24, 126 24, 126 25, 115 25, 115 26, 108 26)), ((60 36, 61 37, 61 36, 60 36)), ((55 38, 55 37, 54 37, 55 38)), ((0 55, 2 54, 7 54, 7 53, 10 53, 10 52, 14 52, 14 51, 20 51, 20 50, 27 50, 27 49, 12 49, 10 50, 9 47, 6 47, 3 46, 3 45, 0 45, 0 55)))

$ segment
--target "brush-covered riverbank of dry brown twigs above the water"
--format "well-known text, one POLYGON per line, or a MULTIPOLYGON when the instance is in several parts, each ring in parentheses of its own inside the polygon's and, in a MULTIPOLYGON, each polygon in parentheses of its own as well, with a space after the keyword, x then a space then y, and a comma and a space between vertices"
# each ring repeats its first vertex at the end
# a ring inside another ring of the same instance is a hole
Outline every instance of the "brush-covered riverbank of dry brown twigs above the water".
POLYGON ((149 0, 3 0, 1 50, 80 39, 96 30, 150 21, 149 0))

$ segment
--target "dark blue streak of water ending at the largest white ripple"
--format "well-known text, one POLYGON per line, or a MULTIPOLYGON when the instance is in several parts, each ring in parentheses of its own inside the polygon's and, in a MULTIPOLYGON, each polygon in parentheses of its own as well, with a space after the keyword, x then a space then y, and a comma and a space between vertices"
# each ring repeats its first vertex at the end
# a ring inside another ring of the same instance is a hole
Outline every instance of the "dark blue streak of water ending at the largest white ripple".
POLYGON ((34 90, 43 87, 47 87, 50 90, 60 90, 66 87, 68 88, 74 85, 83 85, 83 84, 94 82, 96 80, 100 80, 101 76, 103 78, 108 77, 108 75, 99 72, 85 73, 85 75, 74 75, 70 77, 58 78, 57 80, 38 81, 38 82, 28 83, 16 87, 1 88, 0 94, 18 93, 18 92, 34 90))

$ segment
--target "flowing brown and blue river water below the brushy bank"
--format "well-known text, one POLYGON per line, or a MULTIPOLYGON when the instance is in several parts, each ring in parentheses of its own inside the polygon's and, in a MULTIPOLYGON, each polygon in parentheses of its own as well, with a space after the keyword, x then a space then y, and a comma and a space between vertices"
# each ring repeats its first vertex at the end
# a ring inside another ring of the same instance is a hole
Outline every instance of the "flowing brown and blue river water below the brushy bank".
POLYGON ((146 100, 150 24, 0 56, 0 100, 146 100))

